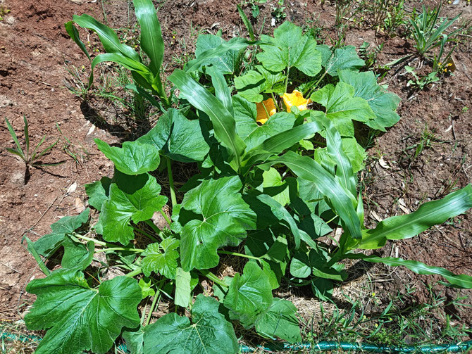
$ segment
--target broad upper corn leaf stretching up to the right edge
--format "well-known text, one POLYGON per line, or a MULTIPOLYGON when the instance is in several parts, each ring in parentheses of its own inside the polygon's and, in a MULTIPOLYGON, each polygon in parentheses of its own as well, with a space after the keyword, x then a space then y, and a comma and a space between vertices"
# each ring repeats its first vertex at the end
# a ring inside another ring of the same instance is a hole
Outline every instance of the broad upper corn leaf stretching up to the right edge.
POLYGON ((385 245, 387 240, 409 239, 433 225, 442 224, 450 217, 472 208, 472 186, 445 196, 439 201, 424 203, 407 215, 392 216, 378 223, 375 229, 363 230, 361 244, 352 248, 373 249, 385 245))

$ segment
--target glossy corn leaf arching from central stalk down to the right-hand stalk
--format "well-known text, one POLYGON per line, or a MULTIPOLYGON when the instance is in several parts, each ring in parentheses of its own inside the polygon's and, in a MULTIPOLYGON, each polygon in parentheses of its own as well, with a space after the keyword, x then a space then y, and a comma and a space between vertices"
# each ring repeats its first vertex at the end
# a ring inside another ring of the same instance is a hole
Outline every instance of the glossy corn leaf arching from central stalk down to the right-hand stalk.
POLYGON ((292 151, 285 153, 280 158, 271 160, 265 165, 275 165, 277 163, 283 163, 298 177, 315 183, 318 190, 330 199, 344 226, 349 230, 349 234, 354 239, 361 239, 361 222, 353 206, 352 198, 333 175, 330 175, 312 158, 299 156, 292 151))

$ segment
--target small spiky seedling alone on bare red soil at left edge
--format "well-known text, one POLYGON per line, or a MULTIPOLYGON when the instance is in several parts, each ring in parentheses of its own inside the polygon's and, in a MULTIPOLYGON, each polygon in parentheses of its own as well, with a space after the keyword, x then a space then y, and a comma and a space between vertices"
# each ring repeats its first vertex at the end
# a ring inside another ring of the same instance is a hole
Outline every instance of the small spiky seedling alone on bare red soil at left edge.
POLYGON ((13 155, 19 156, 23 161, 25 161, 26 165, 26 171, 25 171, 25 184, 27 183, 27 180, 30 177, 30 167, 44 167, 44 166, 56 166, 61 164, 60 163, 42 163, 39 161, 39 158, 42 158, 42 156, 46 155, 46 153, 49 153, 51 151, 51 148, 54 148, 56 144, 58 143, 59 139, 54 141, 54 143, 50 144, 43 150, 40 150, 39 148, 42 146, 44 141, 46 141, 46 135, 42 137, 41 141, 39 141, 39 144, 35 146, 33 151, 30 151, 30 135, 28 134, 28 122, 26 120, 26 117, 23 115, 23 122, 25 122, 25 143, 26 143, 26 148, 23 150, 23 148, 20 145, 20 141, 18 141, 18 137, 16 136, 15 130, 13 130, 13 127, 11 126, 10 122, 8 121, 7 118, 5 118, 6 121, 6 126, 8 127, 8 132, 10 132, 11 137, 13 138, 13 141, 15 141, 16 148, 6 148, 6 150, 9 153, 13 153, 13 155))

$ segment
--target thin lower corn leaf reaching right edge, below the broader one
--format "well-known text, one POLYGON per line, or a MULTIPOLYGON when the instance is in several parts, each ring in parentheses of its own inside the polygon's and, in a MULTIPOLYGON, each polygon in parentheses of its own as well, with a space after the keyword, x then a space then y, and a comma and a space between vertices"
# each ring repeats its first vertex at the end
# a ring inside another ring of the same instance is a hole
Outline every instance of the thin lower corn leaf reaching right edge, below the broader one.
POLYGON ((363 255, 361 253, 349 254, 347 258, 350 259, 361 259, 366 262, 371 263, 384 263, 392 267, 397 267, 399 265, 412 270, 416 274, 425 274, 433 275, 438 274, 444 277, 449 284, 455 285, 460 288, 472 289, 472 277, 467 274, 454 274, 449 270, 446 270, 442 267, 433 267, 426 265, 424 263, 418 262, 416 260, 404 260, 402 258, 393 258, 393 257, 377 257, 375 255, 363 255))

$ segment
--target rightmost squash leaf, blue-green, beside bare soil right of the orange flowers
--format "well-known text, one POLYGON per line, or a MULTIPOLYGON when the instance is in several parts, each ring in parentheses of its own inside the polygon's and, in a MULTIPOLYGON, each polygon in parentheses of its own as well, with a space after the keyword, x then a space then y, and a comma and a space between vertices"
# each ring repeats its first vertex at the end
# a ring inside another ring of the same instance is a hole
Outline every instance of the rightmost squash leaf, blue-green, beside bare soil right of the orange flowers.
POLYGON ((391 127, 400 120, 400 116, 396 112, 400 102, 399 96, 383 89, 377 83, 373 72, 340 70, 339 75, 341 82, 354 87, 354 97, 365 99, 375 113, 377 118, 367 120, 366 125, 385 132, 385 127, 391 127))

